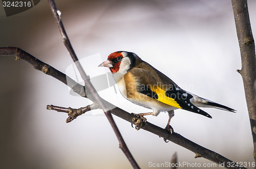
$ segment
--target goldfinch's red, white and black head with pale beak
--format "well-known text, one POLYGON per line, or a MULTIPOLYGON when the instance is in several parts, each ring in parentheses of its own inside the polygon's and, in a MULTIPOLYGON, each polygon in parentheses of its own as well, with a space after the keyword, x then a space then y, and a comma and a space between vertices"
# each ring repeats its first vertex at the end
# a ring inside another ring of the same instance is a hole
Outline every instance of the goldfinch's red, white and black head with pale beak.
POLYGON ((108 67, 114 73, 126 74, 131 70, 138 56, 133 52, 116 51, 111 53, 108 60, 99 65, 99 67, 108 67))

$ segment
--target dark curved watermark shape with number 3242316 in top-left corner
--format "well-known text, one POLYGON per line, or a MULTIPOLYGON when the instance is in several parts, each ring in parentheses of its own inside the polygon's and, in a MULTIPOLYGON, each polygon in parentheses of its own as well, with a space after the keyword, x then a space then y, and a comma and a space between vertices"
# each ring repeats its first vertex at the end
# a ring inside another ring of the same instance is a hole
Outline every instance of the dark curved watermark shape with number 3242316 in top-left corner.
POLYGON ((24 11, 29 10, 36 6, 40 0, 31 0, 31 1, 24 1, 24 0, 17 0, 17 1, 5 1, 2 0, 3 7, 5 9, 6 16, 12 16, 24 11))

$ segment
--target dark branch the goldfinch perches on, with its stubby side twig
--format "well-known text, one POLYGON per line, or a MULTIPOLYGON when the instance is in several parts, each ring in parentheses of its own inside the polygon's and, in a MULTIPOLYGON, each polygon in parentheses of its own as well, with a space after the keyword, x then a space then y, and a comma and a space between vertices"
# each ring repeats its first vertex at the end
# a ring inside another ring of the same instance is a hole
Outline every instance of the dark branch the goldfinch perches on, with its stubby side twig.
MULTIPOLYGON (((52 2, 52 1, 50 1, 52 2)), ((56 11, 56 13, 59 13, 56 11)), ((58 17, 60 17, 59 15, 57 15, 58 17)), ((66 41, 66 40, 64 40, 66 41)), ((66 43, 65 43, 66 44, 66 43)), ((33 65, 33 67, 37 70, 40 70, 58 80, 60 80, 61 82, 65 83, 65 85, 69 85, 69 87, 71 87, 74 92, 80 94, 80 96, 82 97, 86 97, 86 93, 88 94, 88 92, 90 92, 90 90, 86 90, 84 91, 84 89, 88 89, 85 88, 81 85, 79 85, 77 82, 75 82, 73 79, 71 79, 70 77, 66 76, 65 74, 59 72, 58 70, 56 70, 55 68, 51 67, 48 64, 45 64, 44 62, 41 62, 39 60, 37 60, 35 57, 33 57, 31 54, 16 48, 16 47, 3 47, 0 48, 0 55, 14 55, 16 56, 16 60, 18 59, 22 59, 25 60, 27 62, 29 62, 31 65, 33 65), (66 79, 67 77, 67 79, 66 79), (70 82, 67 82, 67 80, 70 80, 70 82), (72 84, 72 85, 70 85, 72 84)), ((87 77, 85 77, 87 78, 87 77)), ((87 82, 86 82, 87 83, 87 82)), ((102 98, 100 98, 100 100, 102 102, 104 102, 105 107, 113 107, 114 105, 112 105, 111 103, 103 100, 102 98)), ((94 102, 95 103, 95 102, 94 102)), ((101 108, 98 104, 94 105, 95 107, 93 108, 101 108)), ((92 109, 92 107, 90 106, 90 108, 88 107, 81 107, 80 109, 72 109, 72 108, 65 108, 65 107, 54 107, 54 106, 49 106, 48 108, 50 109, 55 109, 55 110, 59 110, 59 111, 63 111, 63 112, 67 112, 69 114, 69 116, 73 116, 71 117, 71 120, 75 119, 77 116, 89 111, 90 109, 92 109), (72 112, 71 112, 72 111, 72 112), (73 118, 73 119, 72 119, 73 118)), ((135 115, 130 114, 129 112, 126 112, 122 109, 120 109, 119 107, 116 107, 114 109, 111 110, 111 113, 130 122, 135 124, 135 121, 133 119, 138 118, 135 115)), ((67 119, 68 120, 68 119, 67 119)), ((173 143, 176 143, 190 151, 193 151, 196 154, 196 157, 203 157, 206 159, 209 159, 211 161, 216 162, 217 164, 219 163, 224 163, 225 167, 228 168, 228 162, 231 163, 232 161, 221 156, 220 154, 208 150, 194 142, 191 142, 190 140, 188 140, 187 138, 183 137, 182 135, 173 132, 173 134, 170 134, 169 132, 167 132, 165 129, 162 129, 154 124, 151 124, 149 122, 145 122, 142 125, 142 129, 152 132, 158 136, 161 136, 163 138, 166 138, 168 140, 170 140, 173 143)), ((130 159, 129 159, 130 160, 130 159)), ((236 163, 234 163, 236 164, 236 163)), ((230 167, 230 166, 229 166, 230 167)), ((239 165, 235 165, 234 167, 230 167, 230 168, 244 168, 244 167, 239 167, 239 165)))

